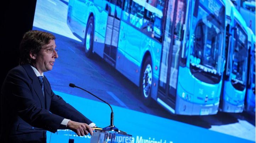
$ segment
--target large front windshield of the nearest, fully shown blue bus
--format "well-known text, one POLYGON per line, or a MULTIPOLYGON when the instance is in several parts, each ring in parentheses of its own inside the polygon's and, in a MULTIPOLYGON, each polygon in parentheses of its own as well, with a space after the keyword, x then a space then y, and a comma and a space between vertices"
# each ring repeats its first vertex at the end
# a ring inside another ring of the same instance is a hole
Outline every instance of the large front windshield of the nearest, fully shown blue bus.
POLYGON ((193 17, 194 32, 190 52, 190 71, 201 81, 218 83, 221 80, 225 8, 216 5, 210 12, 199 4, 198 14, 193 17))

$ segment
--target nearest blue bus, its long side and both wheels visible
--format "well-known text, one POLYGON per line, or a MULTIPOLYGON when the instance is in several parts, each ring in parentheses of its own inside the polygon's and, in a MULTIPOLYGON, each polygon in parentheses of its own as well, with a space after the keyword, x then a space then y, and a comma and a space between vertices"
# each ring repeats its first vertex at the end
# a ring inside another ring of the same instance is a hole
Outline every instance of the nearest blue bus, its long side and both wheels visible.
POLYGON ((218 112, 225 63, 223 0, 69 0, 67 24, 157 101, 184 115, 218 112))

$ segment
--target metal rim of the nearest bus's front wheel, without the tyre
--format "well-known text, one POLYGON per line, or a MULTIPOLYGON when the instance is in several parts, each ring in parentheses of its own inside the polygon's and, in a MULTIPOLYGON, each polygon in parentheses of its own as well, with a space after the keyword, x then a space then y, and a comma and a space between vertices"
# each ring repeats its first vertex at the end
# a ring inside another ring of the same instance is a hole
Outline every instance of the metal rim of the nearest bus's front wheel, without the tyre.
POLYGON ((143 84, 144 97, 148 98, 151 92, 151 85, 152 85, 152 68, 150 64, 148 64, 145 68, 142 84, 143 84))

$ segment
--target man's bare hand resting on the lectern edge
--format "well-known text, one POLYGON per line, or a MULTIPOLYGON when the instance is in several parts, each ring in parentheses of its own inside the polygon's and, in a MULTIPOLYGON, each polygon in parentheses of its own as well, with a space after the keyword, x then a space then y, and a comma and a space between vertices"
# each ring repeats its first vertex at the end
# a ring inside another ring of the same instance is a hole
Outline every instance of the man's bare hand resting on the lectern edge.
POLYGON ((76 132, 78 136, 88 135, 88 133, 93 135, 93 130, 94 130, 85 123, 74 122, 72 120, 68 122, 67 128, 76 132))

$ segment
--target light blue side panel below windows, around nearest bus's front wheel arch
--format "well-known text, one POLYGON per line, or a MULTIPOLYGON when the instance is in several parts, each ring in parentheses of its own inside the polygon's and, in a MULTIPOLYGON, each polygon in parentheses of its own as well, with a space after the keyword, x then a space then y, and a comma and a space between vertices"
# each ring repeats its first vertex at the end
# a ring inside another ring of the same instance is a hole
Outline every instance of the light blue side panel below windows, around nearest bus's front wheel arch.
POLYGON ((151 56, 153 76, 157 76, 159 67, 159 60, 157 60, 161 55, 161 44, 156 42, 154 39, 140 34, 140 31, 135 27, 121 21, 121 29, 119 33, 119 43, 118 43, 118 54, 117 57, 124 58, 122 62, 126 66, 120 65, 116 66, 116 69, 122 71, 122 74, 130 79, 133 83, 139 86, 140 72, 143 66, 143 58, 145 53, 148 51, 151 56), (125 27, 125 28, 123 28, 125 27), (124 30, 125 29, 125 30, 124 30), (119 50, 121 48, 121 50, 119 50), (124 57, 122 57, 122 55, 124 57), (154 60, 156 59, 156 60, 154 60))

